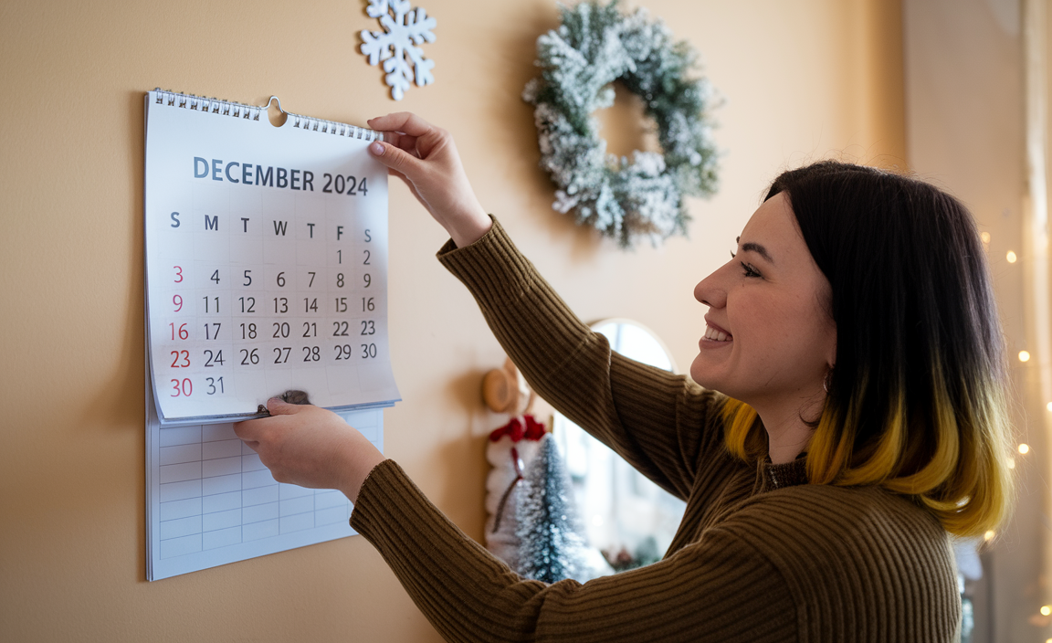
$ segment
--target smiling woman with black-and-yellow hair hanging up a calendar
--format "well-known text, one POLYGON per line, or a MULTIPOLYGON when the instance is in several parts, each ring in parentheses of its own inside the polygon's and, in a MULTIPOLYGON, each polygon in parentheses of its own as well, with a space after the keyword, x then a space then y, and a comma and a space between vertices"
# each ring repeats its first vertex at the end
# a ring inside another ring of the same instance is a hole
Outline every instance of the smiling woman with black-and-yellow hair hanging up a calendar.
POLYGON ((612 354, 569 313, 486 215, 447 133, 408 114, 369 124, 538 393, 687 501, 661 562, 545 585, 337 416, 271 400, 275 417, 238 425, 279 481, 355 501, 351 525, 447 640, 955 639, 947 533, 993 528, 1012 491, 1003 338, 957 201, 853 165, 783 174, 694 289, 709 312, 691 381, 612 354))

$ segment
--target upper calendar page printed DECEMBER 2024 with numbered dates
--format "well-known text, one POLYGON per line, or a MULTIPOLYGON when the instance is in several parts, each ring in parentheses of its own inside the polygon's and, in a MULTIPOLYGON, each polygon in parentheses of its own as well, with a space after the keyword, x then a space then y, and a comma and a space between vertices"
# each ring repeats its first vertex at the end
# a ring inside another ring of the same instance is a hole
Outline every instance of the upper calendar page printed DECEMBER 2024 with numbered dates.
POLYGON ((399 399, 387 337, 381 134, 146 96, 148 365, 162 425, 230 422, 285 390, 399 399))

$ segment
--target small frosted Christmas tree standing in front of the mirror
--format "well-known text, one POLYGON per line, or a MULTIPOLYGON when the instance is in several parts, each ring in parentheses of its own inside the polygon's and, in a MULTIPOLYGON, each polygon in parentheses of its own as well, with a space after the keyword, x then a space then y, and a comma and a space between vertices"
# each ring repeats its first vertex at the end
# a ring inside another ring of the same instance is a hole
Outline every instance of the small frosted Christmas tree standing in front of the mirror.
POLYGON ((550 434, 541 440, 522 485, 515 510, 519 574, 545 583, 598 576, 581 536, 570 477, 550 434))

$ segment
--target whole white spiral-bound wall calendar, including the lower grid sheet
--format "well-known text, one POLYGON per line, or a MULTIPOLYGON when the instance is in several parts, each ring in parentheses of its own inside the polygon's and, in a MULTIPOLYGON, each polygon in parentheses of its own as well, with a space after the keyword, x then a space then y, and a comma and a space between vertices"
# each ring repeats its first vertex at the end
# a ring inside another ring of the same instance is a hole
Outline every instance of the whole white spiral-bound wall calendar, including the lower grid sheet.
POLYGON ((286 390, 383 450, 381 135, 146 96, 146 548, 158 580, 355 535, 340 493, 279 484, 231 422, 286 390))

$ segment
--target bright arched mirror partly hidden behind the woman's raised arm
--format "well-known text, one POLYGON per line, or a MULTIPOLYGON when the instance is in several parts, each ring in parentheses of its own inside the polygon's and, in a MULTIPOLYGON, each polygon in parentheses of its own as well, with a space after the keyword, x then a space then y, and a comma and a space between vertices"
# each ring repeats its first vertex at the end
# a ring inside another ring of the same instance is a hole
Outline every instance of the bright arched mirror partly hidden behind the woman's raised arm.
MULTIPOLYGON (((676 373, 668 348, 643 324, 607 319, 591 327, 606 336, 621 355, 676 373)), ((603 551, 619 571, 660 560, 672 542, 686 503, 559 413, 553 437, 573 482, 588 544, 603 551)))

